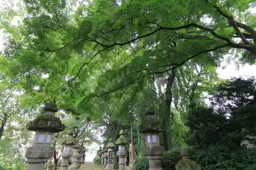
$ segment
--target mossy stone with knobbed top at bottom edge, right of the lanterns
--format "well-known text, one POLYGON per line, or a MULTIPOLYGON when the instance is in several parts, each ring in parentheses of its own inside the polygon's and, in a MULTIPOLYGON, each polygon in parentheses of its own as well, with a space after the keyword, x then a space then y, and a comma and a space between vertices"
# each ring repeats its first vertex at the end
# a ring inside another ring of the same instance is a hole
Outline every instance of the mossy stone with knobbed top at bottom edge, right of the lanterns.
POLYGON ((175 165, 176 170, 200 170, 201 167, 193 160, 188 159, 187 150, 181 149, 180 155, 182 156, 181 160, 175 165))

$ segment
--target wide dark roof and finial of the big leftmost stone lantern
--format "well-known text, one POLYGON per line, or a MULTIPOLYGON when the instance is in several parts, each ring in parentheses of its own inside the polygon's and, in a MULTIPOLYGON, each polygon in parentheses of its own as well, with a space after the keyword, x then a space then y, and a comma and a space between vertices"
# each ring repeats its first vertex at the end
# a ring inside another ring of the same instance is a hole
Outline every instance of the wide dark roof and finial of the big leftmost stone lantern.
POLYGON ((55 103, 47 103, 44 107, 45 113, 41 116, 34 118, 26 125, 26 129, 36 132, 50 132, 58 133, 65 130, 66 126, 63 125, 59 118, 54 114, 58 111, 55 103))

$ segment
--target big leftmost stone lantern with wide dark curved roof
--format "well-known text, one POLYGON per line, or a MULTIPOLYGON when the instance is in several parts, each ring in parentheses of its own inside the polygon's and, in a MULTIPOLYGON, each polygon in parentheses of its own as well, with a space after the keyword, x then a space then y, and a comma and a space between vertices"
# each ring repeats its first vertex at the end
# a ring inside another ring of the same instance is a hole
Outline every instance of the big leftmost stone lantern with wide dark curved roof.
POLYGON ((44 114, 30 121, 26 128, 35 131, 35 138, 32 147, 27 148, 28 170, 43 170, 45 163, 54 154, 54 147, 51 146, 54 133, 65 130, 59 118, 55 117, 58 108, 55 103, 47 103, 44 107, 44 114))

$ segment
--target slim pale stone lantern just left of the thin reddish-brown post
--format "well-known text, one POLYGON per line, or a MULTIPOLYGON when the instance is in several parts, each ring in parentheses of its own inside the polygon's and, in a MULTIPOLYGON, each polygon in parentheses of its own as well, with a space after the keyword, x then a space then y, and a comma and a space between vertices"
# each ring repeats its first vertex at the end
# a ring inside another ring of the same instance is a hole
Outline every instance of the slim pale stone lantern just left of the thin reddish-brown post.
POLYGON ((126 157, 126 151, 125 151, 125 145, 127 144, 126 138, 123 136, 123 130, 120 130, 119 133, 120 137, 117 139, 116 144, 118 145, 118 152, 117 156, 119 158, 119 169, 118 170, 125 170, 125 157, 126 157))

